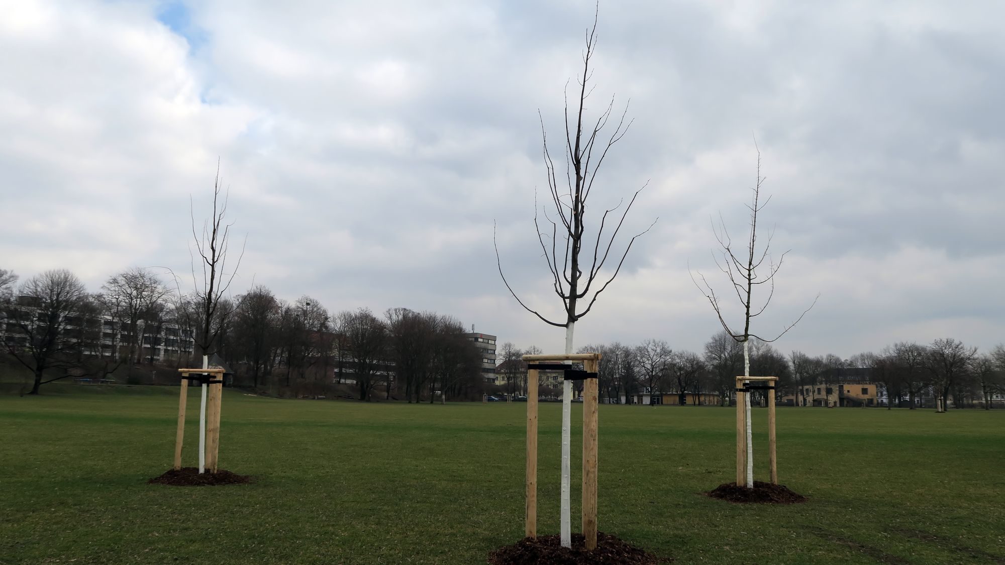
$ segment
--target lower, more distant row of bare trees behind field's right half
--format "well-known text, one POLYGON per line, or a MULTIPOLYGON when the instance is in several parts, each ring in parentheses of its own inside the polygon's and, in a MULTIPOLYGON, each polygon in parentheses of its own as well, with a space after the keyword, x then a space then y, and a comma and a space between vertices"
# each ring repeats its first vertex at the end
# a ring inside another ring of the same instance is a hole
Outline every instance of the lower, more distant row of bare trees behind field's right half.
MULTIPOLYGON (((536 350, 537 348, 535 348, 536 350)), ((665 341, 650 339, 639 345, 619 342, 581 348, 603 354, 598 369, 601 396, 611 403, 630 402, 632 395, 661 393, 684 396, 714 394, 716 403, 727 406, 733 396, 736 377, 743 374, 743 346, 725 331, 705 344, 699 354, 674 350, 665 341), (711 394, 710 394, 711 393, 711 394)), ((526 394, 526 364, 512 343, 498 350, 499 392, 526 394)), ((1005 407, 1005 346, 987 353, 967 347, 954 339, 937 339, 929 345, 896 343, 879 354, 860 353, 847 359, 833 354, 810 356, 793 351, 786 356, 769 343, 752 339, 751 375, 776 376, 778 398, 793 397, 805 405, 804 391, 816 385, 868 382, 877 385, 888 407, 916 408, 924 398, 952 398, 956 407, 1005 407)), ((759 401, 762 394, 755 393, 759 401)), ((688 401, 690 402, 690 401, 688 401)), ((705 401, 705 403, 711 403, 705 401)))

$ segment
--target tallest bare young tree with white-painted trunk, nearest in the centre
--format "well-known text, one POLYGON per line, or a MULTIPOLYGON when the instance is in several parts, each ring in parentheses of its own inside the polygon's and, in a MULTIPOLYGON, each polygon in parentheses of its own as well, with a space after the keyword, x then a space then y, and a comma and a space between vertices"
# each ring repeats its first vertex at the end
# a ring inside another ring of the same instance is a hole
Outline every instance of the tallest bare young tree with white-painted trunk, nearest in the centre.
MULTIPOLYGON (((591 121, 586 117, 587 99, 593 91, 589 84, 592 78, 591 61, 595 54, 597 45, 597 17, 594 14, 593 26, 586 36, 586 49, 583 53, 583 71, 579 76, 577 103, 570 116, 568 105, 568 92, 566 96, 565 126, 566 136, 563 142, 564 153, 566 154, 566 174, 565 181, 560 181, 562 175, 559 174, 552 160, 551 150, 548 145, 544 119, 541 118, 541 132, 543 139, 543 155, 545 168, 547 170, 548 188, 551 195, 554 215, 544 212, 544 221, 539 221, 538 208, 535 205, 534 225, 538 234, 538 242, 544 251, 545 260, 548 264, 549 272, 552 275, 552 287, 555 294, 562 301, 565 316, 563 319, 550 320, 541 315, 537 310, 530 308, 517 293, 514 292, 506 275, 502 273, 501 261, 498 257, 498 246, 495 247, 495 259, 498 266, 499 275, 504 284, 517 302, 525 310, 534 314, 546 324, 566 329, 566 354, 571 354, 573 348, 573 333, 576 322, 586 316, 593 308, 597 297, 603 293, 608 285, 614 280, 624 263, 628 250, 631 249, 635 238, 642 235, 648 228, 635 234, 628 241, 625 249, 620 253, 617 265, 613 272, 604 271, 604 265, 609 258, 617 257, 618 253, 611 255, 611 249, 615 237, 621 230, 624 219, 631 209, 638 193, 644 186, 632 194, 620 218, 614 223, 617 215, 612 216, 610 222, 608 215, 615 212, 619 206, 606 209, 600 215, 600 221, 596 234, 592 237, 586 232, 586 210, 587 201, 593 190, 597 172, 607 158, 608 151, 620 141, 627 133, 631 123, 625 123, 625 116, 628 108, 625 106, 613 132, 608 136, 605 128, 612 118, 614 110, 614 98, 605 110, 601 112, 596 121, 591 121), (563 186, 564 185, 564 186, 563 186), (547 227, 543 230, 544 222, 551 224, 551 229, 547 227), (611 224, 614 223, 613 228, 611 224), (562 227, 560 228, 559 225, 562 227), (606 233, 605 233, 605 230, 606 233), (590 242, 593 242, 592 256, 589 251, 590 242), (581 252, 586 249, 587 257, 581 257, 581 252), (585 259, 585 260, 584 260, 585 259), (592 295, 591 295, 592 293, 592 295), (582 305, 586 304, 586 308, 582 305)), ((540 114, 540 113, 539 113, 540 114)), ((610 130, 608 130, 610 131, 610 130)), ((620 205, 620 204, 619 204, 620 205)), ((650 226, 651 227, 651 226, 650 226)), ((569 430, 572 401, 572 382, 565 381, 563 385, 562 398, 562 508, 561 508, 561 543, 563 547, 572 547, 570 529, 570 505, 569 505, 569 430)))

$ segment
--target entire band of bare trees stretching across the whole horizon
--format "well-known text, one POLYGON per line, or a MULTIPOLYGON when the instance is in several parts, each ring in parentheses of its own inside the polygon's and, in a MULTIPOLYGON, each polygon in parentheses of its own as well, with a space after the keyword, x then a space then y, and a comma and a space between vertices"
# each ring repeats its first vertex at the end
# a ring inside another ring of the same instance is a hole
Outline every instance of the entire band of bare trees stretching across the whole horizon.
MULTIPOLYGON (((192 364, 202 355, 194 345, 207 326, 199 297, 168 287, 150 269, 110 276, 96 293, 65 269, 18 280, 0 269, 0 351, 31 372, 30 393, 68 377, 125 373, 129 380, 142 365, 197 366, 192 364)), ((382 316, 365 308, 332 314, 311 297, 287 302, 262 286, 221 302, 209 320, 212 347, 236 372, 238 384, 249 388, 327 395, 341 384, 340 390, 351 389, 363 400, 409 402, 476 398, 485 391, 481 354, 455 318, 405 308, 382 316)), ((751 374, 779 377, 779 397, 793 396, 797 405, 805 403, 807 387, 849 378, 876 384, 890 407, 915 408, 924 399, 941 398, 947 406, 952 399, 956 407, 991 408, 993 399, 1005 395, 1002 345, 980 353, 952 338, 928 345, 899 342, 847 359, 799 351, 786 356, 756 339, 750 347, 751 374)), ((714 393, 728 405, 734 379, 743 374, 742 346, 726 332, 712 336, 700 353, 655 339, 580 350, 603 354, 598 378, 608 402, 629 401, 648 389, 680 395, 680 403, 688 393, 714 393)), ((526 394, 520 359, 526 353, 540 350, 499 346, 499 384, 492 391, 526 394)))

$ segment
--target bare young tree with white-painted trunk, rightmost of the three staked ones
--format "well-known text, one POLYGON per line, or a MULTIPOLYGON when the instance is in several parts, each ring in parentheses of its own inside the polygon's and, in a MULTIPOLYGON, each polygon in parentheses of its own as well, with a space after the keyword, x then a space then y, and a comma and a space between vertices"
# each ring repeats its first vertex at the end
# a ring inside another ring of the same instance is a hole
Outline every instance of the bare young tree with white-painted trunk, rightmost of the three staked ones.
MULTIPOLYGON (((775 294, 775 274, 782 267, 782 261, 785 259, 785 251, 778 258, 778 262, 772 260, 771 251, 771 239, 774 231, 768 234, 768 238, 761 248, 758 248, 758 214, 768 202, 771 197, 768 197, 764 202, 761 201, 761 187, 763 186, 765 178, 761 176, 761 151, 757 152, 757 179, 754 183, 754 187, 751 189, 752 192, 752 202, 747 206, 750 210, 750 232, 745 240, 745 245, 741 249, 736 249, 733 244, 733 239, 730 237, 730 233, 726 228, 726 223, 720 221, 719 228, 715 228, 713 224, 713 229, 716 233, 716 239, 719 241, 721 247, 720 254, 717 255, 713 253, 716 259, 716 264, 719 266, 730 280, 730 289, 737 296, 740 301, 740 305, 743 309, 743 326, 730 325, 726 321, 726 316, 724 314, 723 304, 720 302, 720 297, 713 290, 712 286, 706 279, 706 277, 698 272, 697 279, 691 276, 691 280, 694 281, 694 286, 701 291, 705 298, 709 300, 709 304, 712 305, 713 310, 716 312, 716 316, 719 318, 720 324, 731 338, 737 342, 743 344, 744 346, 744 376, 751 376, 750 372, 750 340, 751 338, 757 338, 763 342, 771 343, 782 336, 784 336, 789 330, 795 327, 803 316, 806 315, 813 305, 816 304, 816 299, 813 300, 813 304, 809 306, 803 313, 796 319, 795 322, 785 326, 781 333, 773 338, 764 338, 757 334, 751 332, 751 321, 764 313, 771 304, 771 299, 775 294), (765 264, 765 261, 768 261, 765 264), (698 282, 700 280, 700 284, 698 282), (769 285, 770 291, 768 293, 768 298, 760 306, 754 302, 754 290, 762 285, 769 285)), ((819 298, 819 295, 818 295, 819 298)), ((746 381, 745 381, 746 382, 746 381)), ((750 395, 745 394, 746 398, 746 408, 747 408, 747 487, 754 488, 754 449, 753 440, 751 433, 751 410, 750 410, 750 395)))

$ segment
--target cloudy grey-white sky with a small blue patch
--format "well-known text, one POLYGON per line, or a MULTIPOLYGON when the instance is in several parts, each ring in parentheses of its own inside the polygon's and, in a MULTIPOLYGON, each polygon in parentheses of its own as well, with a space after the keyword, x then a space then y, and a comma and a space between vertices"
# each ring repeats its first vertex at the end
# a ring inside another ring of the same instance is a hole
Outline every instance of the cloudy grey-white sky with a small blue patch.
MULTIPOLYGON (((532 223, 547 190, 538 113, 559 139, 590 2, 0 12, 0 267, 65 267, 93 291, 132 265, 190 272, 190 199, 207 215, 219 158, 246 234, 237 293, 433 310, 562 351, 563 330, 499 279, 492 224, 515 290, 560 316, 532 223)), ((613 96, 634 123, 587 220, 648 181, 624 233, 658 221, 576 342, 700 350, 719 326, 688 265, 729 291, 711 219, 742 238, 755 138, 773 195, 761 221, 776 259, 791 249, 756 331, 777 333, 819 294, 779 349, 1005 341, 1002 22, 992 1, 602 2, 587 113, 613 96)))

